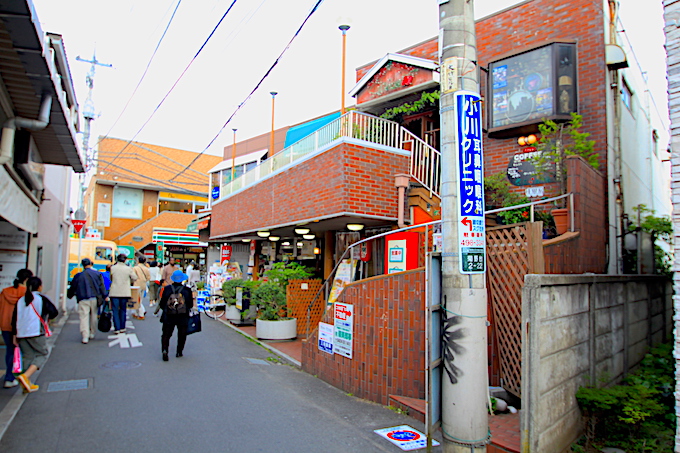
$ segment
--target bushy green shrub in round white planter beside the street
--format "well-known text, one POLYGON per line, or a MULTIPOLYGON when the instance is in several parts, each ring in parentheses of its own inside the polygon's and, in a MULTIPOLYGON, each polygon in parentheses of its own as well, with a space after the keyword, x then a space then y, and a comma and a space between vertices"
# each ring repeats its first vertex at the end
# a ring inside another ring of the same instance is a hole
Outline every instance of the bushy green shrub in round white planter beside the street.
POLYGON ((264 282, 252 294, 258 307, 255 336, 261 340, 289 340, 297 336, 297 319, 288 316, 286 293, 276 282, 264 282))

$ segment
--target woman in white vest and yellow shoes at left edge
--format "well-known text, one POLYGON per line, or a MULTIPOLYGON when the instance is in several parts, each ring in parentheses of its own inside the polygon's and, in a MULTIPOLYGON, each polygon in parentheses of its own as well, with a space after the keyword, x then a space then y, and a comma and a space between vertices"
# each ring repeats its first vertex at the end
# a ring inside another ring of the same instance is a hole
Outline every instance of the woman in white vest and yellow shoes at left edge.
MULTIPOLYGON (((38 371, 47 360, 47 343, 45 335, 49 332, 47 325, 50 319, 57 317, 57 309, 42 291, 42 280, 30 277, 26 282, 26 294, 17 301, 12 315, 12 334, 14 344, 21 348, 23 374, 17 380, 24 388, 24 393, 36 392, 39 388, 31 382, 31 376, 38 371)), ((51 335, 51 334, 49 334, 51 335)))

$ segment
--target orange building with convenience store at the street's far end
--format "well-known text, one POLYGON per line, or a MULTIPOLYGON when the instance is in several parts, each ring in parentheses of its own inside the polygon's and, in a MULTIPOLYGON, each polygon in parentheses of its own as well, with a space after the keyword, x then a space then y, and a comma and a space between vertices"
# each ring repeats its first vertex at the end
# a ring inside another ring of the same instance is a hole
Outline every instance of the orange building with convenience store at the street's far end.
POLYGON ((88 227, 102 239, 154 256, 205 263, 207 244, 187 227, 208 206, 206 173, 216 156, 115 138, 101 138, 97 171, 86 192, 88 227))

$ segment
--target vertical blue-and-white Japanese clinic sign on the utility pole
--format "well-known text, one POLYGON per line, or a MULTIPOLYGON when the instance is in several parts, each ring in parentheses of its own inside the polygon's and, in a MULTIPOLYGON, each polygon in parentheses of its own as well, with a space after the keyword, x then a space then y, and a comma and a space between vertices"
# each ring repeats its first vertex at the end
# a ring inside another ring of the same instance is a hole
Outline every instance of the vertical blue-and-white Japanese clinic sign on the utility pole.
POLYGON ((461 274, 486 271, 482 104, 479 94, 455 94, 458 152, 458 256, 461 274))

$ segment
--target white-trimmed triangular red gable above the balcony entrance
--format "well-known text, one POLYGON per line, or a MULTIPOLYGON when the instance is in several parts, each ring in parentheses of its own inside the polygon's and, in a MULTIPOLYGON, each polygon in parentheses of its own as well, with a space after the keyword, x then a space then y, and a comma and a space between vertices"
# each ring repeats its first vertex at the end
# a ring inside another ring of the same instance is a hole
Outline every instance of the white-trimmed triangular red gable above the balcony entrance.
POLYGON ((349 92, 357 105, 373 99, 412 90, 413 87, 439 81, 438 65, 432 60, 388 53, 359 80, 349 92))

